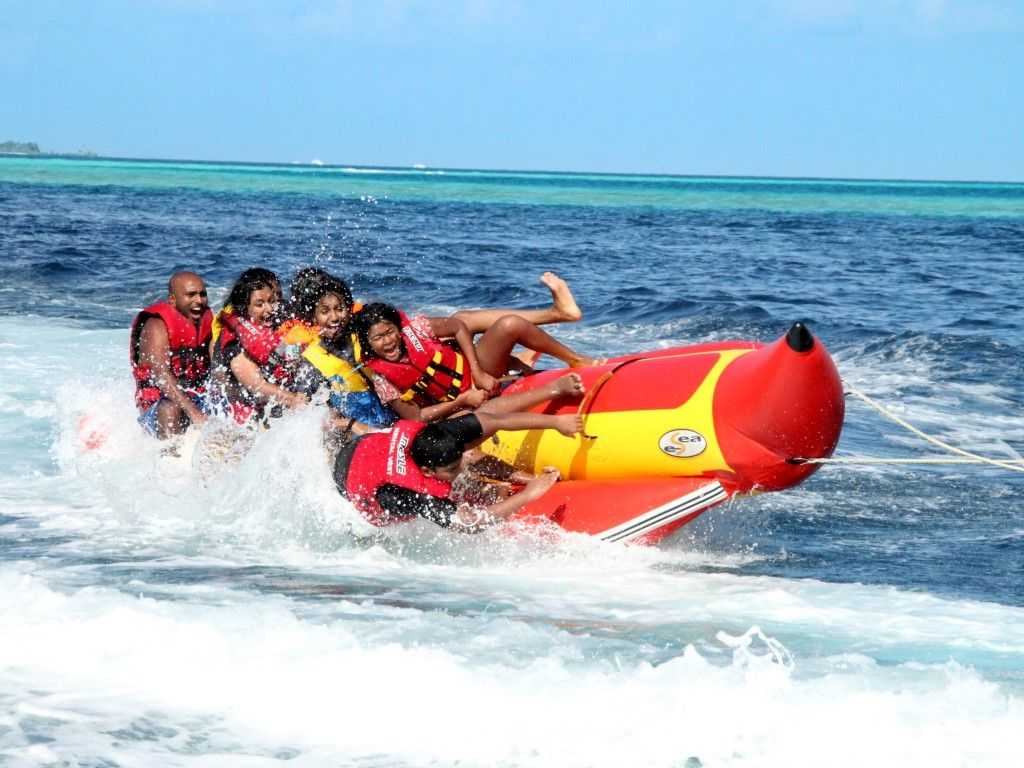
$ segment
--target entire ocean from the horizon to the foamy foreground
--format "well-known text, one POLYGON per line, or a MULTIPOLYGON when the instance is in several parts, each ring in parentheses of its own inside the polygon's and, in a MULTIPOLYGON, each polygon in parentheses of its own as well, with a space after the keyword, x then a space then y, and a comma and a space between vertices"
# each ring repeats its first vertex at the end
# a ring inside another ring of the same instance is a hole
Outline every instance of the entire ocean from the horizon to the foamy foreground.
MULTIPOLYGON (((802 321, 1019 460, 1022 259, 1024 184, 0 158, 0 765, 1022 765, 1018 472, 826 465, 656 548, 373 538, 314 411, 201 476, 127 360, 177 269, 215 307, 316 264, 428 313, 544 305, 552 269, 584 352, 802 321)), ((851 397, 837 456, 944 454, 851 397)))

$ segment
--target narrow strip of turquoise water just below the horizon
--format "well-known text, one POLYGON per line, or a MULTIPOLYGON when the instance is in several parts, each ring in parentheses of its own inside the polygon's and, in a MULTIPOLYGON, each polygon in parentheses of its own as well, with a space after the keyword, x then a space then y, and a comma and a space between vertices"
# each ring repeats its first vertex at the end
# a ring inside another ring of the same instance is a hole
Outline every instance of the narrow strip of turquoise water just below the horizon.
POLYGON ((0 158, 0 181, 664 209, 1024 216, 1024 184, 0 158))

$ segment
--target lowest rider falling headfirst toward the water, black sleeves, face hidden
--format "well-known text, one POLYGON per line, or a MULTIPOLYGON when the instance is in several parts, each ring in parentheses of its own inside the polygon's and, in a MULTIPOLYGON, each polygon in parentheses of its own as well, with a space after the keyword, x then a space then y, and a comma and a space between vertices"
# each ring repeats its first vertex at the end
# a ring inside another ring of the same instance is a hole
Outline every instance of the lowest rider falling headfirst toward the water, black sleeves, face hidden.
MULTIPOLYGON (((538 393, 528 396, 540 399, 538 393)), ((575 374, 562 377, 544 392, 544 399, 582 396, 575 374)), ((583 429, 579 415, 505 411, 521 407, 518 397, 500 397, 476 413, 433 424, 401 420, 388 431, 356 437, 334 460, 338 493, 380 527, 424 517, 442 527, 476 532, 508 519, 547 493, 558 480, 558 471, 546 468, 537 476, 506 472, 501 479, 523 482, 522 490, 483 507, 457 503, 452 483, 466 468, 466 452, 500 429, 556 429, 569 437, 583 429)))

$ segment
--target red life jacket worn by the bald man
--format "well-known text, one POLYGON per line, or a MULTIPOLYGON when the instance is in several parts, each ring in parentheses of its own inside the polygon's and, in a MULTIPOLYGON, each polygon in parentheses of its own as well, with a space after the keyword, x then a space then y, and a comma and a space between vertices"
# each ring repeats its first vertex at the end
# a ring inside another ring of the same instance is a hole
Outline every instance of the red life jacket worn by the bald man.
POLYGON ((163 397, 163 392, 153 379, 153 366, 139 362, 139 341, 142 327, 151 317, 160 317, 167 328, 167 342, 171 352, 171 373, 178 385, 189 392, 205 390, 210 373, 210 336, 213 312, 207 309, 200 318, 199 328, 177 308, 167 302, 151 304, 135 315, 128 341, 128 359, 135 377, 135 404, 144 411, 163 397))

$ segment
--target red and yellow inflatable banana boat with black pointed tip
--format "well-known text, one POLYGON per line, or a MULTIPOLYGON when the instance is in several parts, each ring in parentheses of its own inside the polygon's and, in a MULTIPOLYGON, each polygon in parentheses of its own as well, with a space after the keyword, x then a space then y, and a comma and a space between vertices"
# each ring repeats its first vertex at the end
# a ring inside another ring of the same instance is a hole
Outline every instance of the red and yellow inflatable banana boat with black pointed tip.
MULTIPOLYGON (((610 542, 654 543, 737 495, 781 490, 831 455, 843 385, 801 324, 771 344, 722 342, 663 349, 578 369, 581 402, 537 407, 584 417, 584 434, 499 432, 482 446, 519 469, 557 467, 563 480, 517 517, 546 518, 610 542)), ((543 386, 537 373, 506 392, 543 386)))

